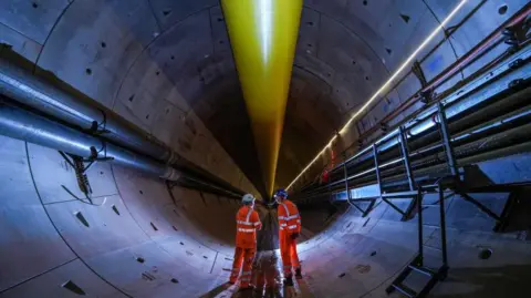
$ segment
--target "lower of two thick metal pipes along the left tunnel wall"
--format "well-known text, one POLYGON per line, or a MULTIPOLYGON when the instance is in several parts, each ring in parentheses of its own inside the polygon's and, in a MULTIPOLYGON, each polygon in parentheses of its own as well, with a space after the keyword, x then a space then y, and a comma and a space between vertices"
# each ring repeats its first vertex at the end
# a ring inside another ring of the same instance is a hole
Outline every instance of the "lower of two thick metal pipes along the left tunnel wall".
POLYGON ((10 105, 6 101, 0 101, 0 134, 91 161, 104 158, 164 179, 177 181, 180 177, 180 173, 170 166, 10 105))

